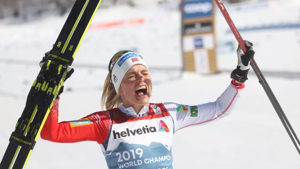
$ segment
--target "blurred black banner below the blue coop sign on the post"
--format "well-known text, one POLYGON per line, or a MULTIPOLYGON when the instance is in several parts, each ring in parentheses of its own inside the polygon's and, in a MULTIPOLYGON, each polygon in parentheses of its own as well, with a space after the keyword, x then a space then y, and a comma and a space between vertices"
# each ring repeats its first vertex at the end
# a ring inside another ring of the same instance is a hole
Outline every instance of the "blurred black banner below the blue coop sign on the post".
POLYGON ((213 29, 212 29, 211 22, 205 22, 205 23, 196 22, 196 23, 184 24, 183 26, 184 35, 207 33, 207 32, 211 32, 212 30, 213 29))

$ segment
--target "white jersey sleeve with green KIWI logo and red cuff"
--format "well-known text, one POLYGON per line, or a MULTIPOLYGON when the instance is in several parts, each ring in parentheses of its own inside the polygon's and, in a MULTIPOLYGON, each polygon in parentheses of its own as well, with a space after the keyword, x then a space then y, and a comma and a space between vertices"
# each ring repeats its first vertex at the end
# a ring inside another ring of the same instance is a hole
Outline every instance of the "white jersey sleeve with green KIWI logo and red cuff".
POLYGON ((243 88, 244 83, 232 80, 215 102, 195 106, 165 102, 163 105, 173 118, 174 131, 176 132, 182 128, 207 124, 230 115, 243 88))

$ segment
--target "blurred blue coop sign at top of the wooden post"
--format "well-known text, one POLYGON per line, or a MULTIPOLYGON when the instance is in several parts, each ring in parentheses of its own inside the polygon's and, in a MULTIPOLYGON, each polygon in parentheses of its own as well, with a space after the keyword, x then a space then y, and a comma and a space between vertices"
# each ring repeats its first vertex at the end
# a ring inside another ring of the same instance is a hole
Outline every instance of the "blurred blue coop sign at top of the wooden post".
POLYGON ((185 1, 183 5, 184 19, 212 16, 212 0, 185 1))

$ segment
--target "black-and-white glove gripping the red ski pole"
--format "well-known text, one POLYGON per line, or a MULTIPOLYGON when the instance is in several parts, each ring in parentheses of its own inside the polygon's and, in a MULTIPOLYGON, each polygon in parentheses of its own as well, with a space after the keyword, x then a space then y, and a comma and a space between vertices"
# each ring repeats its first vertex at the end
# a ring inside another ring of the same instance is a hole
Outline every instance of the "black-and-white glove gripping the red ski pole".
POLYGON ((253 44, 250 41, 244 40, 244 42, 247 52, 244 53, 241 49, 241 46, 238 45, 238 49, 236 50, 236 53, 238 55, 238 65, 236 66, 236 69, 234 69, 231 73, 231 78, 240 82, 248 80, 247 74, 250 69, 250 59, 253 58, 255 54, 255 51, 252 48, 253 44), (241 76, 242 78, 237 77, 235 74, 241 76))

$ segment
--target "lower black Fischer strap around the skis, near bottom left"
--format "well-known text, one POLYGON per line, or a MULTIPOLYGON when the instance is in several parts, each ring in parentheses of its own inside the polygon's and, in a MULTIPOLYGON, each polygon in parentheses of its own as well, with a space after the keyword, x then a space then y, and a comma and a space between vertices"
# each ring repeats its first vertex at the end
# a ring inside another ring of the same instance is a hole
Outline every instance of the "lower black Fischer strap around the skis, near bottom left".
POLYGON ((23 136, 19 133, 16 133, 13 131, 13 133, 10 135, 9 141, 11 143, 14 143, 18 146, 22 146, 26 149, 32 150, 35 146, 36 141, 34 139, 28 138, 26 136, 23 136))

